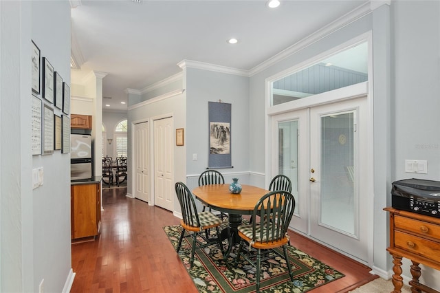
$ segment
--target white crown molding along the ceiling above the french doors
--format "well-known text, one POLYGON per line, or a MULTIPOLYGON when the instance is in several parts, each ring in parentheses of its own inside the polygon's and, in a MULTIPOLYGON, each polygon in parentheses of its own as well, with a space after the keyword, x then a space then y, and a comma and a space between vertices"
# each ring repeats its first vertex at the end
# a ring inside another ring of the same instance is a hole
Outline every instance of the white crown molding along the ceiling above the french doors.
POLYGON ((254 74, 262 72, 264 69, 267 69, 268 67, 282 61, 283 59, 291 56, 292 54, 295 54, 296 52, 303 50, 305 47, 313 43, 316 43, 320 39, 323 39, 325 36, 331 34, 332 32, 336 32, 337 30, 344 28, 344 26, 349 25, 349 23, 352 23, 353 21, 360 19, 364 15, 371 13, 372 6, 370 3, 371 1, 366 2, 362 6, 359 6, 358 8, 351 10, 351 12, 344 14, 339 19, 336 19, 336 21, 329 23, 325 27, 314 32, 313 34, 310 34, 305 39, 298 41, 294 45, 287 47, 287 49, 272 56, 263 63, 256 65, 254 68, 250 69, 249 75, 253 76, 254 74))

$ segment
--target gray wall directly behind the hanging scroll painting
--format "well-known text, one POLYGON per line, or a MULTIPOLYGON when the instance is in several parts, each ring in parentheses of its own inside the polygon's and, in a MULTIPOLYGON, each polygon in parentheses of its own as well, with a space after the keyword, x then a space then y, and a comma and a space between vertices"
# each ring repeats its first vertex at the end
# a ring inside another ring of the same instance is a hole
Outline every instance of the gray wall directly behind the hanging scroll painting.
MULTIPOLYGON (((239 177, 249 181, 249 78, 203 69, 186 68, 186 169, 188 186, 197 186, 198 175, 208 167, 208 102, 227 102, 231 106, 231 157, 233 169, 219 169, 225 182, 239 177), (197 154, 197 161, 192 155, 197 154)), ((254 129, 252 127, 252 129, 254 129)), ((264 133, 264 128, 252 131, 264 133)))

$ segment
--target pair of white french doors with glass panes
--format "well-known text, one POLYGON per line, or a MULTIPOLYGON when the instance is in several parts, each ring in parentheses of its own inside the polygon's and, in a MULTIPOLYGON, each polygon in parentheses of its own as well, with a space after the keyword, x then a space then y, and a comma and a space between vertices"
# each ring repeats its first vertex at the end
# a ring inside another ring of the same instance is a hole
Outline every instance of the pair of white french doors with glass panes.
POLYGON ((272 117, 272 175, 292 180, 292 227, 368 261, 367 104, 355 98, 272 117))

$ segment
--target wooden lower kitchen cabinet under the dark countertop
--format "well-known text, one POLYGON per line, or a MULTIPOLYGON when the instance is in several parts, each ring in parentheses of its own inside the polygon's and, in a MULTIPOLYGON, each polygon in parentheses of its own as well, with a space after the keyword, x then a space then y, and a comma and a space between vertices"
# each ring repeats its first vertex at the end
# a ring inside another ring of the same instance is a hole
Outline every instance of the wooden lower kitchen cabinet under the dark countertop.
POLYGON ((70 197, 72 239, 98 235, 101 222, 100 182, 72 184, 70 197))

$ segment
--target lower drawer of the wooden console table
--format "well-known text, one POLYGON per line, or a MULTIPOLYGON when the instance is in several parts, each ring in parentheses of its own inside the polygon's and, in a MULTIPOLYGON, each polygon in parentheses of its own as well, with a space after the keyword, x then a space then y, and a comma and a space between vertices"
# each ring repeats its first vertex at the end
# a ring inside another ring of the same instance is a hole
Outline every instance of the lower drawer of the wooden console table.
POLYGON ((404 232, 394 231, 394 246, 428 259, 440 259, 439 243, 404 232))

